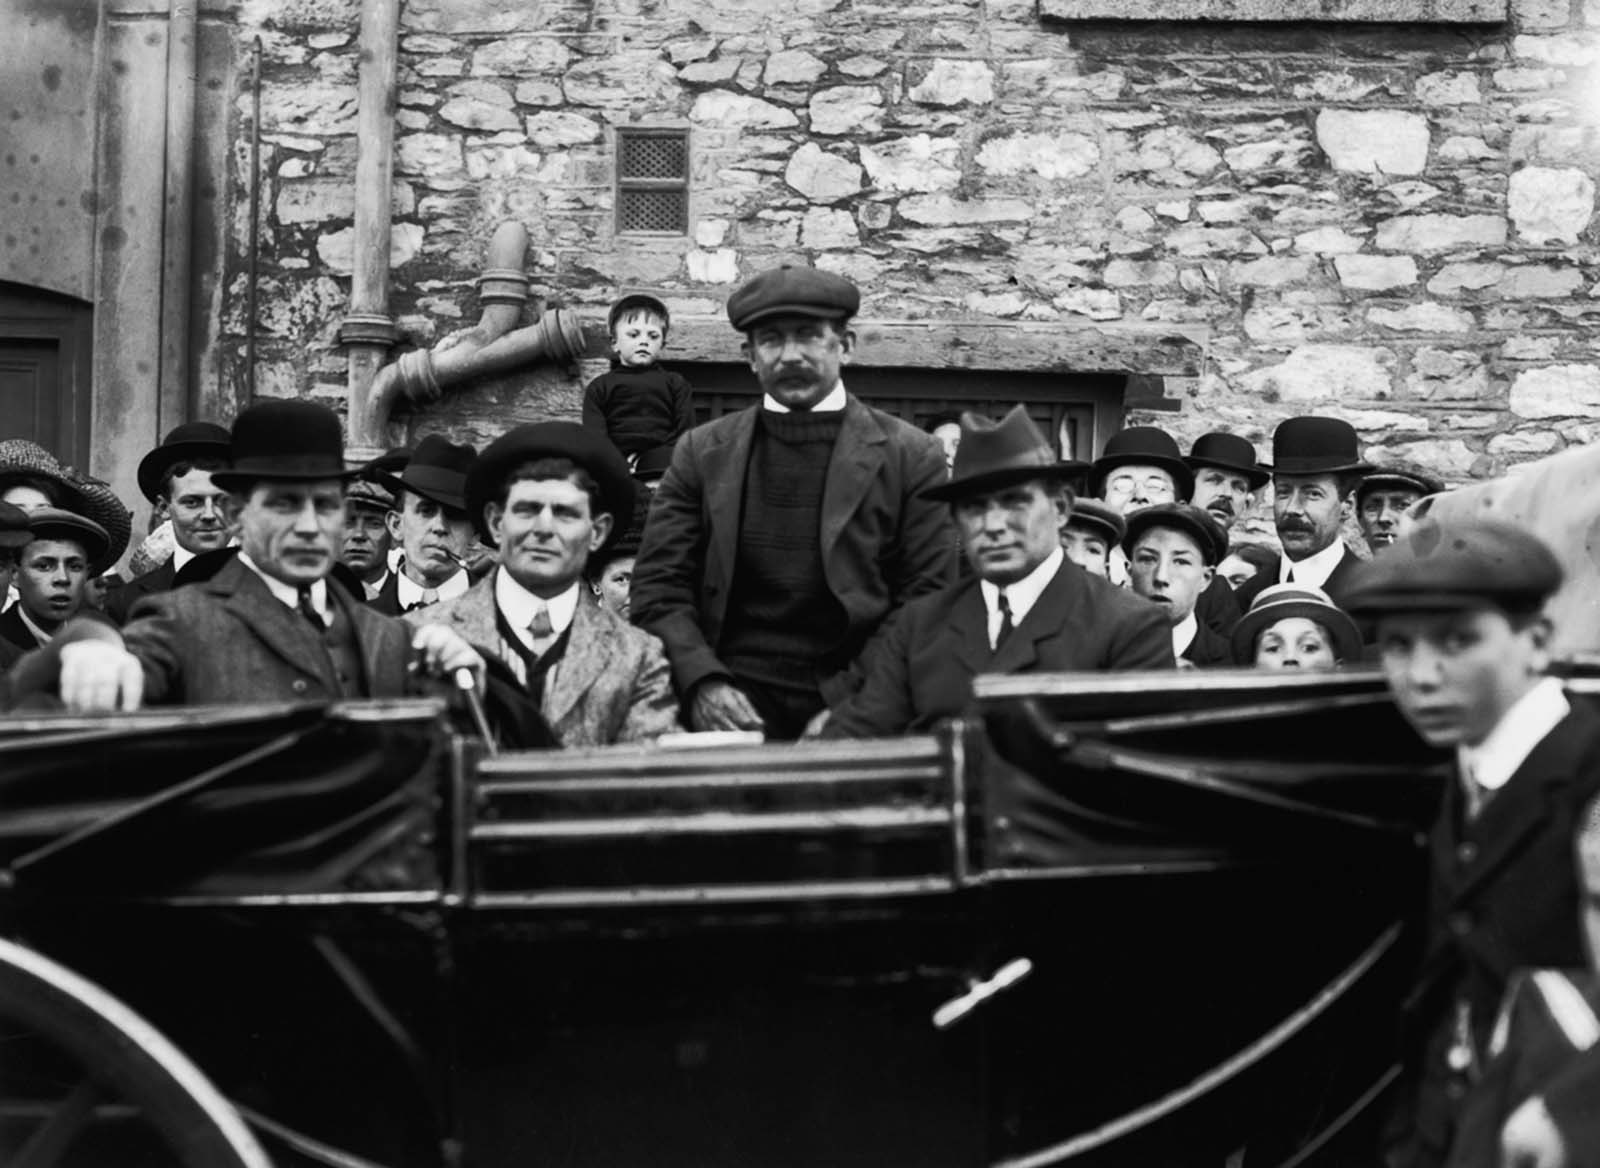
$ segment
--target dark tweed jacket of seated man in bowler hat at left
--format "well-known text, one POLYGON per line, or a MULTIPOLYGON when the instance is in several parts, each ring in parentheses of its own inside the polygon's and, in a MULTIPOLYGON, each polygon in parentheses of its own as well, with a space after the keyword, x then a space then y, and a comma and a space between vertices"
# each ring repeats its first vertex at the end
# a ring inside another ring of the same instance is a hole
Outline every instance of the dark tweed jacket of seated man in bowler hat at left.
MULTIPOLYGON (((373 613, 331 578, 328 600, 354 626, 365 698, 413 691, 411 630, 373 613)), ((134 605, 123 643, 144 666, 146 704, 334 701, 333 659, 317 632, 230 558, 200 584, 134 605)))

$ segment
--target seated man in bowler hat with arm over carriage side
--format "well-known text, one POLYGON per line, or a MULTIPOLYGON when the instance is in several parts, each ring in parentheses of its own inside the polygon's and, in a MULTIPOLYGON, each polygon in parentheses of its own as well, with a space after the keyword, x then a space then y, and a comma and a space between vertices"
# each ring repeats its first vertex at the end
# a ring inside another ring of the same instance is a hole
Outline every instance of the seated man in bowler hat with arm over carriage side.
POLYGON ((238 554, 200 584, 141 600, 120 635, 96 626, 61 648, 62 701, 138 709, 398 698, 414 691, 414 666, 482 675, 482 658, 450 629, 411 630, 331 579, 344 485, 355 474, 344 469, 342 443, 323 405, 245 410, 234 422, 232 469, 213 472, 238 501, 238 554))

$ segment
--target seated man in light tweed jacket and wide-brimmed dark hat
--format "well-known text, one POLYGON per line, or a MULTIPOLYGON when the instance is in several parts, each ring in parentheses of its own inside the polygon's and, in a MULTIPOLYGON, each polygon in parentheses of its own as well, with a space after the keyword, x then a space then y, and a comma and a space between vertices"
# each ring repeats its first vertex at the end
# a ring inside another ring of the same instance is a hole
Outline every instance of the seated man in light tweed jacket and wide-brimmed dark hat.
POLYGON ((661 642, 598 603, 584 581, 634 514, 634 480, 605 434, 518 426, 491 442, 466 485, 493 573, 411 613, 477 645, 515 678, 560 746, 645 742, 678 730, 661 642))

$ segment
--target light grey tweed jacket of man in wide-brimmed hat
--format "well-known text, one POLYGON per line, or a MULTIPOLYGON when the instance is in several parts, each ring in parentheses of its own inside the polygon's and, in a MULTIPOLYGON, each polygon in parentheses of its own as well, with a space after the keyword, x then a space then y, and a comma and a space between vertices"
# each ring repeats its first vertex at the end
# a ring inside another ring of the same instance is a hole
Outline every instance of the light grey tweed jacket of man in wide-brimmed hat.
MULTIPOLYGON (((494 573, 466 595, 406 613, 413 624, 446 624, 485 656, 502 661, 494 573)), ((539 712, 562 746, 648 742, 682 730, 661 642, 600 608, 579 587, 566 653, 544 683, 539 712)))

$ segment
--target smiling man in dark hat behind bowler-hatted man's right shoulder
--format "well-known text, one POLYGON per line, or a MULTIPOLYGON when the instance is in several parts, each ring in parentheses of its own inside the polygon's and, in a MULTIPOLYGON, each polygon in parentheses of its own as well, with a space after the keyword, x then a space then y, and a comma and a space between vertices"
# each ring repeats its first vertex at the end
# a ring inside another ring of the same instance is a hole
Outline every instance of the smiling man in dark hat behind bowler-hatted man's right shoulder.
POLYGON ((184 422, 139 459, 139 491, 154 504, 157 520, 173 525, 173 554, 106 598, 106 614, 117 624, 128 619, 139 597, 170 592, 194 557, 227 546, 229 498, 211 482, 214 470, 227 467, 227 430, 214 422, 184 422))

